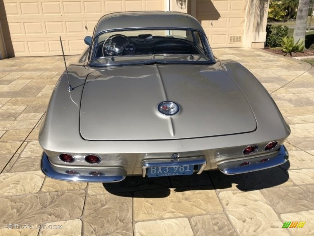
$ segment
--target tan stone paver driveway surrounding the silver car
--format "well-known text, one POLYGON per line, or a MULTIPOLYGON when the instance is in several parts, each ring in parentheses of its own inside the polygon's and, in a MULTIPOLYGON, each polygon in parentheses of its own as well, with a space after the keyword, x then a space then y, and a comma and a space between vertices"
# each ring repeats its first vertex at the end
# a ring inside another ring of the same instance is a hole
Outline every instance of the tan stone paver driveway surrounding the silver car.
MULTIPOLYGON (((62 57, 0 60, 0 235, 314 235, 311 66, 261 50, 214 53, 249 68, 272 94, 292 130, 290 163, 237 176, 210 171, 105 185, 46 178, 37 137, 62 57), (286 229, 285 221, 306 224, 286 229)), ((68 56, 68 64, 76 59, 68 56)))

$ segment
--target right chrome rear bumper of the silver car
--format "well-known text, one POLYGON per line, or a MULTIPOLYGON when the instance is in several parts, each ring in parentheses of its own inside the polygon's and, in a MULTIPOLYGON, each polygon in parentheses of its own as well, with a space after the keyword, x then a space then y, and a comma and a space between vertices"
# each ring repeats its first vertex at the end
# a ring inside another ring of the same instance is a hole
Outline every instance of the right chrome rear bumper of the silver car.
POLYGON ((226 161, 219 164, 218 169, 226 175, 235 175, 252 171, 259 171, 284 164, 288 160, 289 155, 284 145, 281 145, 276 156, 269 157, 269 160, 265 162, 260 162, 261 160, 266 158, 268 158, 268 156, 264 155, 251 159, 248 158, 243 160, 226 161), (240 166, 240 164, 243 162, 248 162, 250 164, 246 166, 240 166))

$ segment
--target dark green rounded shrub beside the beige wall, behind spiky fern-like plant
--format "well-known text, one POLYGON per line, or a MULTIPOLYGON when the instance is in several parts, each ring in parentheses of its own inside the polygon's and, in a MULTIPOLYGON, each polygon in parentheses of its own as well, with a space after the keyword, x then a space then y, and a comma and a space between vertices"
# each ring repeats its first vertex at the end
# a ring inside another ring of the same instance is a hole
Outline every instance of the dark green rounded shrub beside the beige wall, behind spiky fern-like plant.
POLYGON ((285 25, 267 25, 266 46, 276 48, 281 46, 283 37, 288 35, 288 27, 285 25))

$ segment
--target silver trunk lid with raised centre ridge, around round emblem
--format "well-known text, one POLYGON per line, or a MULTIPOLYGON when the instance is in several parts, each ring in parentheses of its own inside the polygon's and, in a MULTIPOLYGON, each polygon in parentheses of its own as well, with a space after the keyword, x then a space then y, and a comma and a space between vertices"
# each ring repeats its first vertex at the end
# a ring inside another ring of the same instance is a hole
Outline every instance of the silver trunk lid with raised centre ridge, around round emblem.
POLYGON ((252 132, 257 123, 236 83, 208 65, 141 65, 86 78, 80 133, 87 140, 169 140, 252 132), (173 101, 180 112, 161 114, 173 101))

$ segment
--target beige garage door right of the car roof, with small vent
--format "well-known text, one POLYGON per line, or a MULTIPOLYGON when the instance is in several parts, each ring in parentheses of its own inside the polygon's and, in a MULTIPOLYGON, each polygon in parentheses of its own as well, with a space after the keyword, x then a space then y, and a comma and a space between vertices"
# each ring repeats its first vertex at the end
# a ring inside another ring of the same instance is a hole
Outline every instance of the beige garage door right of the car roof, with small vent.
POLYGON ((197 0, 196 18, 212 48, 242 47, 247 0, 197 0))

